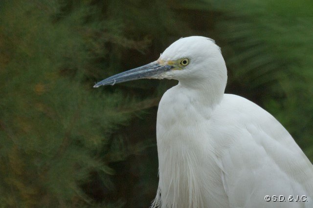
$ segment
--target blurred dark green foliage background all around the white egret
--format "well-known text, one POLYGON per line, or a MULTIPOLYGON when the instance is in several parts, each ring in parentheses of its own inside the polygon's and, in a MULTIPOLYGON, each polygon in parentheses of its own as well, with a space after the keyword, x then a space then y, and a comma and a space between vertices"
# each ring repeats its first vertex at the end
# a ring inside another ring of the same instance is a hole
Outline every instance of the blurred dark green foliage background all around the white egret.
POLYGON ((221 46, 226 92, 273 114, 312 161, 312 11, 312 0, 1 0, 1 207, 149 207, 157 104, 177 82, 92 86, 192 35, 221 46))

